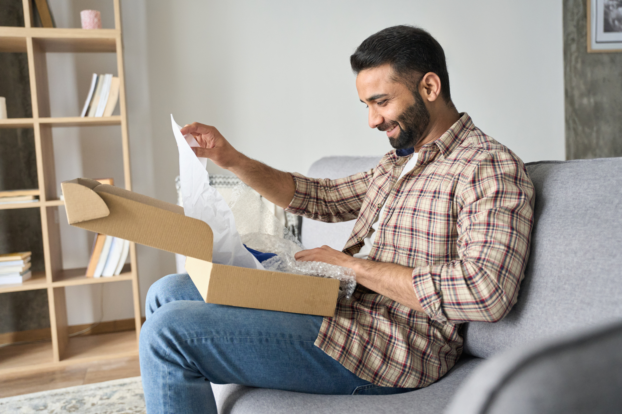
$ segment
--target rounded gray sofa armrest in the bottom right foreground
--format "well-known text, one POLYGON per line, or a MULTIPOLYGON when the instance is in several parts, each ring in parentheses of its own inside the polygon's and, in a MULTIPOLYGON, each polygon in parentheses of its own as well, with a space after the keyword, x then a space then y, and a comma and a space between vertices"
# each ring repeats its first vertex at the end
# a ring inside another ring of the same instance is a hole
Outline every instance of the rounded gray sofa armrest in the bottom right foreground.
POLYGON ((620 412, 622 323, 547 342, 483 362, 446 414, 620 412))

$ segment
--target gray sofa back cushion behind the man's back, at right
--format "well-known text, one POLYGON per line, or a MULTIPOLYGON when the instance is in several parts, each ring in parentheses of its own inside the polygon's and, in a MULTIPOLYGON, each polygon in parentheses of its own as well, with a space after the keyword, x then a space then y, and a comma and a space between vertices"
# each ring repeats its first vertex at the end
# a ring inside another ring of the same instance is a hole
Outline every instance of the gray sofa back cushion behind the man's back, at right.
POLYGON ((465 353, 488 358, 565 331, 622 320, 622 158, 527 164, 536 187, 518 302, 465 324, 465 353))

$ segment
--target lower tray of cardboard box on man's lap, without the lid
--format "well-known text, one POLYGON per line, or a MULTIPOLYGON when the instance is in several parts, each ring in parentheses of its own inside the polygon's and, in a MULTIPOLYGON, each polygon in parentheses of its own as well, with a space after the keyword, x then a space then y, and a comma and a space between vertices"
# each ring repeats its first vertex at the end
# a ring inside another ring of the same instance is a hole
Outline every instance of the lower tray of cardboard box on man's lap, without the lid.
POLYGON ((339 281, 215 264, 188 257, 186 270, 210 304, 332 317, 339 281), (305 295, 301 295, 304 292, 305 295))

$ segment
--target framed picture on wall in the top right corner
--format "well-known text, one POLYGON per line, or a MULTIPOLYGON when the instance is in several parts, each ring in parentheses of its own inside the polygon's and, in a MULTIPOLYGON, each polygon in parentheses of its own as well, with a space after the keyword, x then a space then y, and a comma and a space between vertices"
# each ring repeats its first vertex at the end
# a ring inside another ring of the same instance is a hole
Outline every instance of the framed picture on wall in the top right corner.
POLYGON ((587 0, 587 51, 622 52, 622 0, 587 0))

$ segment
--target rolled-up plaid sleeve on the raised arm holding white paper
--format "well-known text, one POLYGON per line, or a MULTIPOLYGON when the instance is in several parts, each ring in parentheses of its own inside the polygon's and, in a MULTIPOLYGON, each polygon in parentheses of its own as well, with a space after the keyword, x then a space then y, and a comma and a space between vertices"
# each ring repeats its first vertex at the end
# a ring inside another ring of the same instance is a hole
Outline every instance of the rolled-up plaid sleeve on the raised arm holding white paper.
POLYGON ((291 173, 296 186, 285 211, 322 222, 345 222, 358 217, 373 169, 340 179, 308 178, 291 173))

